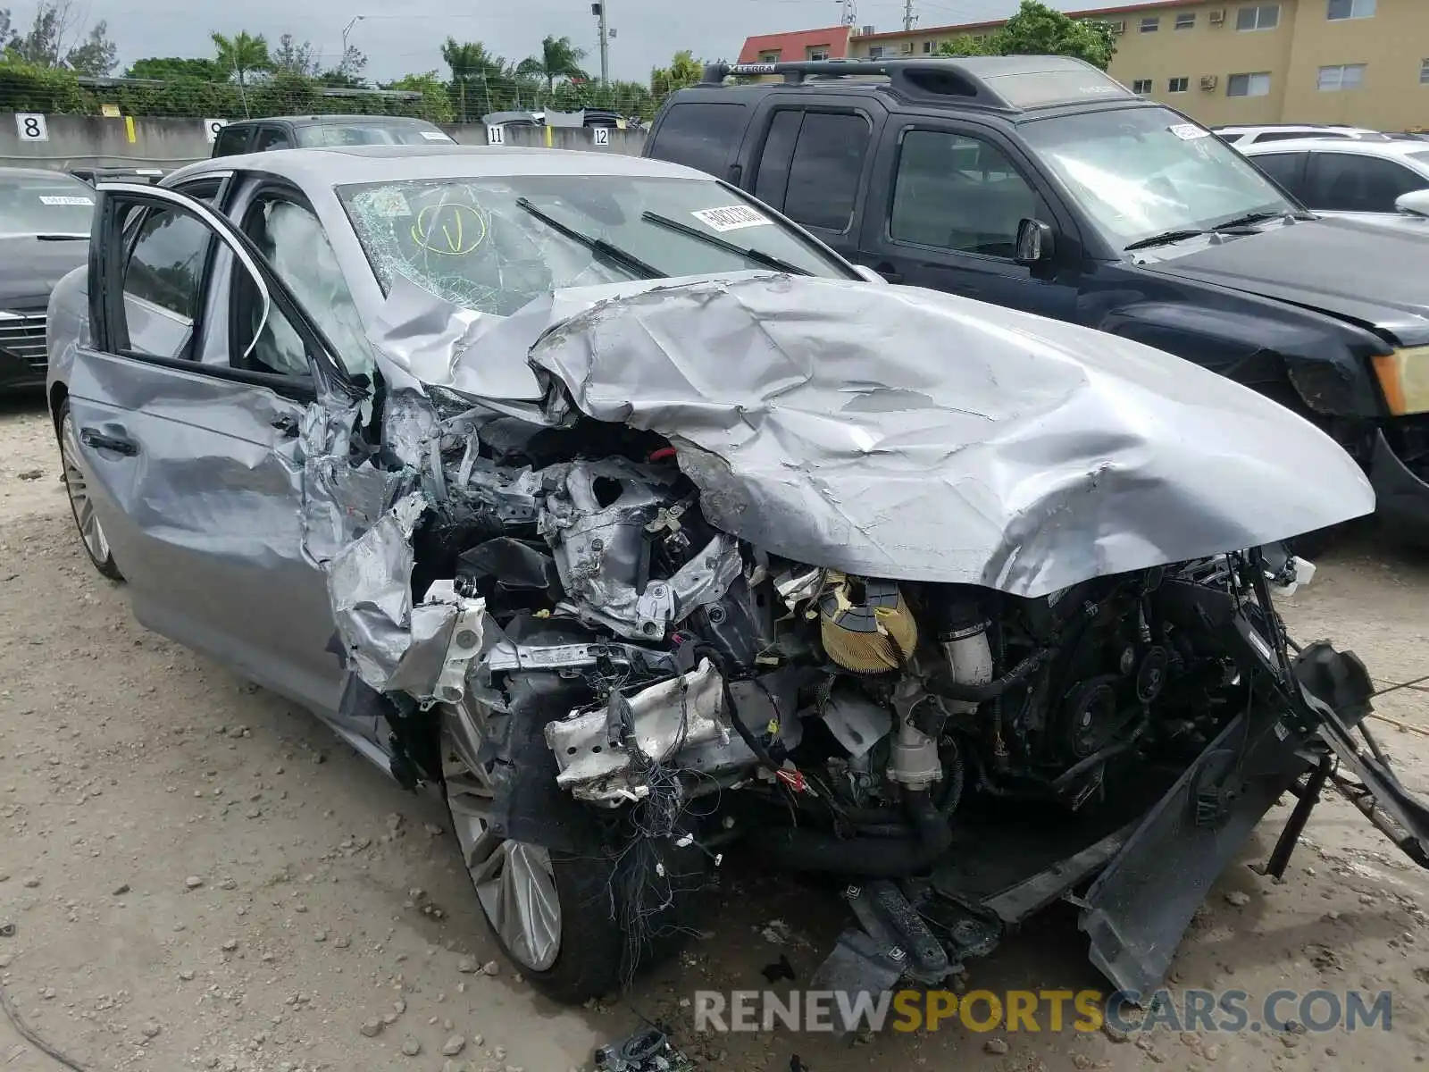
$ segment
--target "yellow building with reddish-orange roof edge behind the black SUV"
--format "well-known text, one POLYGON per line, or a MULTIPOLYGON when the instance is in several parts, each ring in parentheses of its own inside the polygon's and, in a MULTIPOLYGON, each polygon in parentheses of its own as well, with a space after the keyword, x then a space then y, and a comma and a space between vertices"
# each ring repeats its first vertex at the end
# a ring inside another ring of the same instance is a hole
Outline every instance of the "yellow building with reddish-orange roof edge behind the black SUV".
MULTIPOLYGON (((1069 14, 1116 27, 1116 79, 1208 126, 1429 129, 1429 0, 1149 0, 1069 14)), ((997 26, 895 33, 839 27, 835 33, 847 40, 827 54, 923 56, 945 40, 997 26)), ((779 54, 770 53, 779 37, 759 39, 760 59, 779 54)), ((756 59, 756 49, 750 53, 756 59)), ((803 53, 782 59, 806 59, 803 53)))

